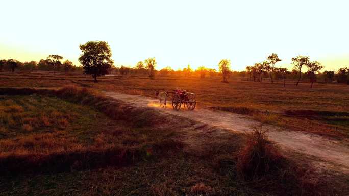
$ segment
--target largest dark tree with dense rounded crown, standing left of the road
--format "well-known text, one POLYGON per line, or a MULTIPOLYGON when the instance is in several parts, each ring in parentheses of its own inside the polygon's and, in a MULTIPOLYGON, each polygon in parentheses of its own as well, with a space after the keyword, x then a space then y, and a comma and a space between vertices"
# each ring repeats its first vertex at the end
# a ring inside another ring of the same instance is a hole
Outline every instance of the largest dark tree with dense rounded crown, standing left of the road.
POLYGON ((89 41, 80 44, 79 48, 82 51, 79 61, 84 73, 91 74, 94 82, 98 82, 97 77, 108 74, 108 69, 114 64, 110 46, 106 41, 89 41))

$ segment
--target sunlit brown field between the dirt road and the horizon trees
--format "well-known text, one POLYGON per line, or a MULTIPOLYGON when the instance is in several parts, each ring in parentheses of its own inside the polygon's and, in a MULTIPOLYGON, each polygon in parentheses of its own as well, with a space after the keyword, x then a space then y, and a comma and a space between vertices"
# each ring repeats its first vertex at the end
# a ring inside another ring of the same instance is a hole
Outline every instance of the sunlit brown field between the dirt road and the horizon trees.
POLYGON ((262 111, 275 115, 273 124, 288 129, 317 133, 332 138, 349 136, 349 86, 309 82, 295 86, 287 81, 270 84, 230 78, 157 77, 149 80, 138 75, 109 75, 93 83, 90 76, 53 74, 53 72, 18 72, 0 74, 0 87, 60 87, 77 84, 105 91, 155 97, 156 90, 185 89, 198 94, 197 107, 253 115, 262 111), (44 73, 44 74, 43 74, 44 73))

